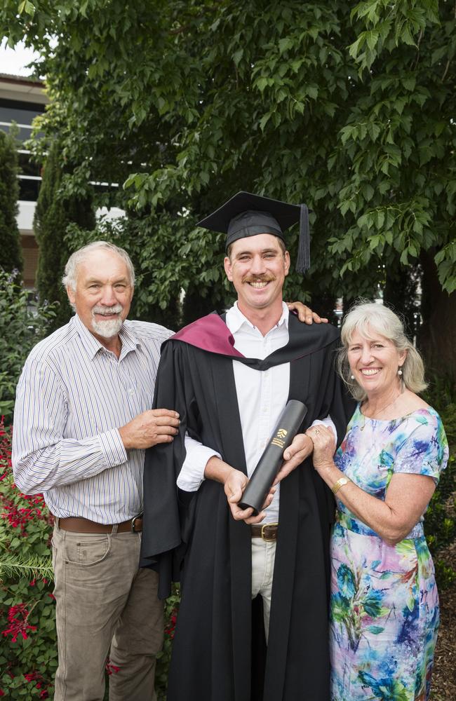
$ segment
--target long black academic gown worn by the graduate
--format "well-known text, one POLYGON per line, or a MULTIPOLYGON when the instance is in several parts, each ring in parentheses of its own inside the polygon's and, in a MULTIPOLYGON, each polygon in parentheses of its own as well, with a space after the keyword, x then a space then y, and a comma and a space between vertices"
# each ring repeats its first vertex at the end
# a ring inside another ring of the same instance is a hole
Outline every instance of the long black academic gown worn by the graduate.
MULTIPOLYGON (((208 479, 194 494, 175 485, 186 430, 246 472, 233 354, 197 348, 180 334, 163 344, 154 402, 179 412, 180 433, 173 444, 146 454, 141 563, 159 569, 162 596, 170 580, 182 580, 168 701, 328 701, 333 496, 311 460, 281 482, 264 693, 258 696, 252 691, 257 632, 250 527, 234 521, 221 484, 208 479)), ((352 406, 333 370, 337 329, 307 326, 290 315, 289 334, 287 346, 263 361, 236 360, 260 370, 290 361, 289 399, 308 409, 301 430, 330 414, 342 440, 352 406)))

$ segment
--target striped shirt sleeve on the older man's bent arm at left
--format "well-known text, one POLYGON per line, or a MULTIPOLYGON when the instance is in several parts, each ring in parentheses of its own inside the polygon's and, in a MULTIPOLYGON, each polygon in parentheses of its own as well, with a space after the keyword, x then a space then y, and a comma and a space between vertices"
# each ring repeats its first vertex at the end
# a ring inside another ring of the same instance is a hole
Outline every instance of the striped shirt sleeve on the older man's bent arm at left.
POLYGON ((68 402, 51 367, 27 361, 16 393, 13 475, 24 494, 98 475, 127 459, 116 428, 81 440, 65 438, 68 402))

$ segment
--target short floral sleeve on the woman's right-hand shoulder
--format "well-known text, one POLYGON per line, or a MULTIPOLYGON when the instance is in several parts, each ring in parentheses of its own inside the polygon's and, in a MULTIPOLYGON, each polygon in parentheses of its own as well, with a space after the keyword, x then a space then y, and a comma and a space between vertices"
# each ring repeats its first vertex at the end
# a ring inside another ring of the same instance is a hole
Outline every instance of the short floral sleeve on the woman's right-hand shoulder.
POLYGON ((394 460, 393 471, 427 475, 437 483, 448 463, 448 440, 438 414, 411 417, 408 435, 401 435, 401 446, 394 460))

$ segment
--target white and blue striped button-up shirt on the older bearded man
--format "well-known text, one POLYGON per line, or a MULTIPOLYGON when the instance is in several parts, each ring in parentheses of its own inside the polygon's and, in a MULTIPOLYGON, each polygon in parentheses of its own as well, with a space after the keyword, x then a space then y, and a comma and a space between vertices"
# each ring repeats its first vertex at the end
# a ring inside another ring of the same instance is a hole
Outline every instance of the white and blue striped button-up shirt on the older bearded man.
MULTIPOLYGON (((144 451, 119 428, 152 407, 160 346, 173 332, 125 321, 119 360, 77 315, 40 341, 16 395, 13 473, 58 517, 120 523, 142 510, 144 451)), ((173 407, 169 407, 173 408, 173 407)))

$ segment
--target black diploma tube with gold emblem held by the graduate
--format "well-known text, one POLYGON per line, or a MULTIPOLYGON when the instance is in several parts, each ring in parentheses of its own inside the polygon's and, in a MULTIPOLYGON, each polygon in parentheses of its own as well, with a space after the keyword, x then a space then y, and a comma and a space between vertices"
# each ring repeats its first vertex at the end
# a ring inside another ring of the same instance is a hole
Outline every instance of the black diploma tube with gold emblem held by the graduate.
POLYGON ((279 416, 271 440, 250 477, 242 501, 239 502, 241 509, 247 509, 250 506, 255 516, 260 512, 264 499, 269 494, 269 489, 283 463, 283 451, 293 442, 306 414, 307 407, 302 402, 295 399, 287 402, 279 416))

